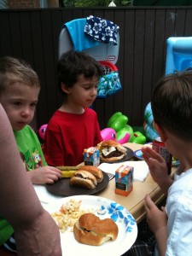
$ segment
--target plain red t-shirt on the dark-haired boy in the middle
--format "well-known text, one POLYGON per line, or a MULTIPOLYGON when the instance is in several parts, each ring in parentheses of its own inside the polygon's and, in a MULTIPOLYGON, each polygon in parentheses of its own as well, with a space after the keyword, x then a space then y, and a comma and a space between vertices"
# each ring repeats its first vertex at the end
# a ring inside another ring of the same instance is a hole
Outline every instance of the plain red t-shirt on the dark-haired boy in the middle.
POLYGON ((84 113, 57 110, 49 120, 44 138, 44 157, 49 166, 77 166, 83 162, 84 148, 102 142, 96 112, 84 113))

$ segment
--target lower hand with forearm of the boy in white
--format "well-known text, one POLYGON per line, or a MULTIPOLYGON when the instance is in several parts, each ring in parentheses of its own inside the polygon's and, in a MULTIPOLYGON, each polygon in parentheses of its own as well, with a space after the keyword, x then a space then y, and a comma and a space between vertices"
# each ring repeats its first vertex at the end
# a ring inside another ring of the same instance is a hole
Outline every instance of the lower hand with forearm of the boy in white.
POLYGON ((154 232, 160 256, 165 256, 167 241, 166 212, 160 211, 160 209, 155 206, 154 202, 148 195, 145 197, 144 205, 147 213, 148 226, 150 230, 154 232))

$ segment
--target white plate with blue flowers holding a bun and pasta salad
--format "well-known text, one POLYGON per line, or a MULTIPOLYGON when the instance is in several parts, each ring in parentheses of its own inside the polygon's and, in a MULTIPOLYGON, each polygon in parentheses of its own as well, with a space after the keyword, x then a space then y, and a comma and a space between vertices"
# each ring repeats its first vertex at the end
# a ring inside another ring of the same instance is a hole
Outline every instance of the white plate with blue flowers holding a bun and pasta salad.
POLYGON ((49 213, 59 212, 62 205, 69 201, 80 202, 80 210, 92 212, 99 218, 112 218, 118 225, 119 234, 115 241, 106 241, 100 246, 90 246, 79 243, 73 236, 73 228, 61 232, 61 247, 63 255, 91 255, 91 256, 120 256, 132 246, 137 238, 137 223, 135 218, 125 207, 117 202, 96 195, 74 195, 57 200, 47 205, 49 213))

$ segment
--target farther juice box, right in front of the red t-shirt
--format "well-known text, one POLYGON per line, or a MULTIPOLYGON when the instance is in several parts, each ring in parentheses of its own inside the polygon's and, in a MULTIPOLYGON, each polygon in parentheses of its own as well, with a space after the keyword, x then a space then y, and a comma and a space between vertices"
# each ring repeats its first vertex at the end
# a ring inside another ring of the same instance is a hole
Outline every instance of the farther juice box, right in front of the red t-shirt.
POLYGON ((90 147, 84 148, 84 166, 99 166, 100 154, 99 148, 90 147))

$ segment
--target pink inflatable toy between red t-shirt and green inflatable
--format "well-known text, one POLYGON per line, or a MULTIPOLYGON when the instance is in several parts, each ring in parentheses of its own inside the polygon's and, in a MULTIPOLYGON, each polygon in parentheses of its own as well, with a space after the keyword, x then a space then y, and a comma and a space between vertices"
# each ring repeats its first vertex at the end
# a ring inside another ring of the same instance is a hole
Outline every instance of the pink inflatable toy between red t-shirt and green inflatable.
MULTIPOLYGON (((113 140, 113 141, 117 141, 116 140, 116 131, 113 130, 113 128, 105 128, 101 131, 101 135, 104 141, 107 140, 113 140)), ((120 144, 124 144, 124 143, 128 143, 130 139, 130 134, 126 133, 124 137, 122 137, 121 139, 119 139, 117 142, 120 144)))

